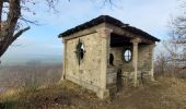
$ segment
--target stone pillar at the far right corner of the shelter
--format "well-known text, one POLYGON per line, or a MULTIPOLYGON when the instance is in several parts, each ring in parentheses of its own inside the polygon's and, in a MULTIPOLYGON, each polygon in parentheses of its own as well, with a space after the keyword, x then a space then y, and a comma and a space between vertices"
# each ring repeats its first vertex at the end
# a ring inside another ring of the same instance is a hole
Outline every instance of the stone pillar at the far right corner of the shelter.
POLYGON ((154 81, 154 64, 153 64, 153 59, 154 59, 154 48, 155 48, 155 44, 153 45, 150 45, 150 49, 151 49, 151 71, 150 71, 150 77, 151 77, 151 81, 154 81))

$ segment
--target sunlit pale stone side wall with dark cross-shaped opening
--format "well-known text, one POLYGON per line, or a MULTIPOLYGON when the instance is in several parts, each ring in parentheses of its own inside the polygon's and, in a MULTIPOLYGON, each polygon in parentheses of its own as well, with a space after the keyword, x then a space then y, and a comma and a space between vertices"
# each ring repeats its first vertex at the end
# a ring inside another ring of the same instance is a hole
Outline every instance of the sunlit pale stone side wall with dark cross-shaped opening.
POLYGON ((101 37, 97 33, 67 40, 66 77, 85 88, 97 92, 101 78, 101 37), (80 40, 85 53, 79 65, 75 48, 80 40))

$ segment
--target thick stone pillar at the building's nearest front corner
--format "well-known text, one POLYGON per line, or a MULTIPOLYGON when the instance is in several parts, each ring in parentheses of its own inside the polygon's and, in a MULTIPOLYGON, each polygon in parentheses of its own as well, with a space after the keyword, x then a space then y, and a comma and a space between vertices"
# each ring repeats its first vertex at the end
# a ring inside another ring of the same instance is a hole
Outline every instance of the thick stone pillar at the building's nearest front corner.
POLYGON ((97 96, 100 98, 105 98, 109 96, 109 92, 106 89, 106 71, 108 64, 108 50, 109 50, 109 37, 111 33, 113 32, 109 28, 100 28, 96 29, 101 37, 101 45, 102 45, 102 53, 101 53, 101 76, 100 76, 100 90, 97 92, 97 96))

